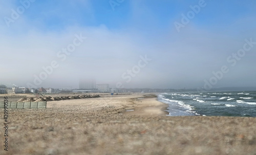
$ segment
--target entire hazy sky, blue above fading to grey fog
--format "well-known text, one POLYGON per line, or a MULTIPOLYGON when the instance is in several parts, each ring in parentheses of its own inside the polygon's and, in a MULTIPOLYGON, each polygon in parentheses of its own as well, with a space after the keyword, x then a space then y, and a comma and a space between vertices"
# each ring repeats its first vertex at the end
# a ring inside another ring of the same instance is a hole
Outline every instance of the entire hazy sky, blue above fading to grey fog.
POLYGON ((0 2, 0 84, 256 86, 256 1, 0 2))

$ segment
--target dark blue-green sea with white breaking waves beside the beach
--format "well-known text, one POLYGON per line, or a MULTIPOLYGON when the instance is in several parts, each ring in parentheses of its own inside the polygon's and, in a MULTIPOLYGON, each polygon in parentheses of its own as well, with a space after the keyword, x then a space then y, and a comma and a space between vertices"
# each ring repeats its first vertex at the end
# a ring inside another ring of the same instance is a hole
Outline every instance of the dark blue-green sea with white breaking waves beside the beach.
POLYGON ((158 95, 167 116, 256 117, 256 91, 175 92, 158 95))

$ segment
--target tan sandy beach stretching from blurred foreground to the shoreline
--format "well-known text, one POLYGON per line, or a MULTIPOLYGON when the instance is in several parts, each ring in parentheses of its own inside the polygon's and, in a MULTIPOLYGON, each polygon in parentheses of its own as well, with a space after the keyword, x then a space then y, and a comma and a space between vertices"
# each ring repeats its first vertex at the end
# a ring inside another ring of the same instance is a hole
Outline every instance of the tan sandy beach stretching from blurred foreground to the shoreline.
POLYGON ((166 104, 140 97, 9 109, 9 148, 4 151, 2 127, 0 154, 256 154, 256 118, 169 117, 166 104))

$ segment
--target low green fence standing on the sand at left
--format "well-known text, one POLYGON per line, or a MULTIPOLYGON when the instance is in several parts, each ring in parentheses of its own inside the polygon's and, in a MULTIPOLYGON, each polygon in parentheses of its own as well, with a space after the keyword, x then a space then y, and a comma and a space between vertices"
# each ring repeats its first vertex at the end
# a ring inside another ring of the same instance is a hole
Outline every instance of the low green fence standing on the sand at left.
MULTIPOLYGON (((40 101, 40 102, 8 102, 8 108, 18 108, 18 109, 25 109, 25 108, 46 108, 47 101, 40 101)), ((0 102, 0 108, 4 108, 5 102, 0 102)))

